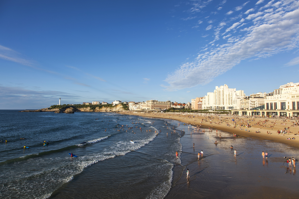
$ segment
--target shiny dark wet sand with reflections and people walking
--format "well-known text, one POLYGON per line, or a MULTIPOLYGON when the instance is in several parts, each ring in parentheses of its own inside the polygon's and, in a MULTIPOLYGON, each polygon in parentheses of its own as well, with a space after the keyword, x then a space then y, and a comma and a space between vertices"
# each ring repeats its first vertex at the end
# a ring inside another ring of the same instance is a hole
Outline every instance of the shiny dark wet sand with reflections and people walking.
POLYGON ((213 129, 193 133, 192 137, 185 134, 181 138, 182 154, 186 154, 181 156, 181 165, 186 168, 184 174, 188 167, 193 175, 191 179, 183 175, 172 185, 166 199, 283 198, 285 194, 287 198, 298 198, 299 178, 295 175, 295 167, 286 166, 283 158, 296 156, 298 149, 267 140, 235 138, 220 132, 222 138, 213 129), (234 149, 237 150, 236 157, 234 149), (197 153, 201 150, 205 155, 198 159, 197 153), (269 152, 268 159, 261 157, 262 151, 269 152), (284 173, 293 175, 286 177, 284 173))

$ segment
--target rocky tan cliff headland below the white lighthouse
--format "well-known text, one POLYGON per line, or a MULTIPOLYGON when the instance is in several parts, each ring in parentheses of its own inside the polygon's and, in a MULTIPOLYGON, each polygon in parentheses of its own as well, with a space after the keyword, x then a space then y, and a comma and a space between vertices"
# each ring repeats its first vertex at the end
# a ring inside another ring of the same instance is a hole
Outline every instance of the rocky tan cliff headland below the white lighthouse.
POLYGON ((55 113, 74 113, 74 112, 122 112, 125 111, 123 106, 121 104, 117 104, 114 107, 102 107, 99 109, 99 107, 96 107, 95 109, 91 109, 90 107, 86 108, 68 108, 68 109, 50 109, 50 108, 45 108, 45 109, 39 109, 39 110, 24 110, 20 112, 55 112, 55 113))

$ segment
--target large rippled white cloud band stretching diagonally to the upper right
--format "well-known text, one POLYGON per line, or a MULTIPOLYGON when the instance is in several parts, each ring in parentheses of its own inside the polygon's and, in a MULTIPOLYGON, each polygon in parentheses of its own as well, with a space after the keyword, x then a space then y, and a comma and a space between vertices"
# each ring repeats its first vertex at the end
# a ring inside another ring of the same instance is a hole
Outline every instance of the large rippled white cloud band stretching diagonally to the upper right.
MULTIPOLYGON (((241 35, 231 36, 226 44, 204 47, 196 59, 182 64, 167 76, 168 86, 161 86, 172 91, 207 84, 242 60, 270 57, 298 48, 299 1, 281 0, 278 7, 273 3, 269 6, 273 12, 260 11, 249 15, 246 23, 251 25, 238 33, 241 35), (255 20, 256 17, 259 19, 255 20)), ((238 23, 230 28, 236 28, 238 23)), ((286 65, 297 63, 299 58, 286 65)))

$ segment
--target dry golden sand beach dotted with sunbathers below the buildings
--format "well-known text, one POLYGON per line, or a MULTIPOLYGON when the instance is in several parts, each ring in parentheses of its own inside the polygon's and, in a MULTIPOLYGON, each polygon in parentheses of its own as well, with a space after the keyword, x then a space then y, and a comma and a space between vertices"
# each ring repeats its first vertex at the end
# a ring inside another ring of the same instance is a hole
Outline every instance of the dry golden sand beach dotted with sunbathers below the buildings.
MULTIPOLYGON (((214 115, 214 114, 182 114, 182 113, 144 113, 144 112, 121 112, 127 115, 139 115, 143 117, 164 118, 181 121, 186 124, 198 126, 204 129, 218 129, 225 132, 233 133, 236 136, 249 138, 266 139, 269 141, 279 142, 299 148, 299 126, 293 125, 296 120, 282 118, 263 118, 263 117, 244 117, 232 115, 214 115), (194 117, 193 117, 194 116, 194 117), (232 121, 234 119, 234 121, 232 121), (245 125, 248 125, 245 126, 245 125), (286 128, 286 129, 285 129, 286 128), (277 133, 285 130, 286 133, 277 133), (259 133, 256 133, 259 132, 259 133), (268 134, 267 134, 268 132, 268 134), (295 138, 288 140, 287 138, 295 138)), ((299 123, 299 120, 297 120, 299 123)), ((297 123, 297 124, 298 124, 297 123)), ((186 128, 188 128, 186 126, 186 128)), ((191 130, 191 129, 190 129, 191 130)))

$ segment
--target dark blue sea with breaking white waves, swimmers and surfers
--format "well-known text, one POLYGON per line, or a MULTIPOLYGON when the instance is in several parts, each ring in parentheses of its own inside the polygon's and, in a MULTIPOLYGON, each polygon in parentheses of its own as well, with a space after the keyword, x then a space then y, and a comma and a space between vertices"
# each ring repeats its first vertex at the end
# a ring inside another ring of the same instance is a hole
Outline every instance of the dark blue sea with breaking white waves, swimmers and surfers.
POLYGON ((1 198, 164 198, 180 164, 173 127, 117 113, 0 110, 1 198))

